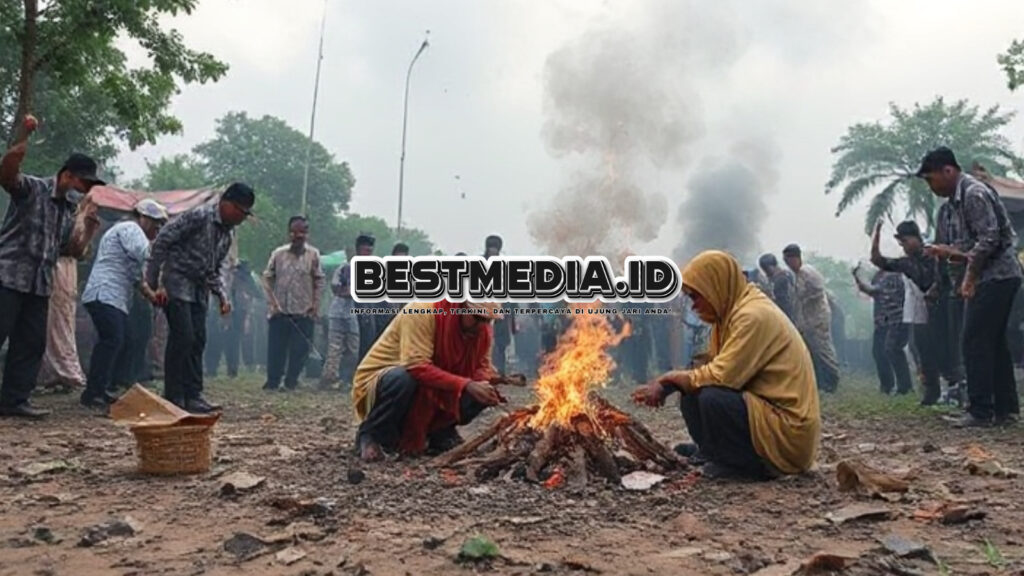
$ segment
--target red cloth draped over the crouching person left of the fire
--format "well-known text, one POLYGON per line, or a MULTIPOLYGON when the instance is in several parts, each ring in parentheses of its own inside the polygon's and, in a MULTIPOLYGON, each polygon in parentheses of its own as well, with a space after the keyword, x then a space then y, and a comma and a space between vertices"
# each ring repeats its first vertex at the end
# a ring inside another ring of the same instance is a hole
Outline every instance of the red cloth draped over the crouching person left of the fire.
POLYGON ((486 379, 494 338, 490 326, 480 326, 475 336, 467 336, 461 317, 450 312, 458 306, 446 301, 434 304, 446 314, 434 315, 433 362, 409 368, 419 385, 401 431, 398 449, 402 454, 422 453, 429 434, 459 423, 459 401, 466 384, 486 379))

